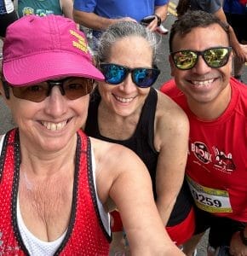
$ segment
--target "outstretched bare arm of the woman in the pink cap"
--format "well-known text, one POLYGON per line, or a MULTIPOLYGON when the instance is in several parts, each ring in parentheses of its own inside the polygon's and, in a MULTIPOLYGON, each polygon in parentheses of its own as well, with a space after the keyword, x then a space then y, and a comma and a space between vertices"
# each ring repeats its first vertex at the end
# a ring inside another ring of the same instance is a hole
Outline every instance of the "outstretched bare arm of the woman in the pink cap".
MULTIPOLYGON (((101 145, 101 154, 105 148, 101 145)), ((101 201, 110 195, 120 212, 131 255, 184 255, 170 240, 153 200, 146 166, 134 152, 112 144, 107 157, 96 162, 97 190, 101 201)))

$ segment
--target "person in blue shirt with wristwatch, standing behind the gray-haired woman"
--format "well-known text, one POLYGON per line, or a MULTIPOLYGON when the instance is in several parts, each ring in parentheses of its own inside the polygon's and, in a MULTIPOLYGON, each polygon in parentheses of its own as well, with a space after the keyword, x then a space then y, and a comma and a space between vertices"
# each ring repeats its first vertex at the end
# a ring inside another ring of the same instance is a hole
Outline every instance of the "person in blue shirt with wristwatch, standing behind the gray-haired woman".
POLYGON ((108 26, 119 20, 140 22, 149 15, 155 16, 147 27, 155 31, 166 19, 168 3, 169 0, 75 0, 73 17, 78 24, 93 29, 93 37, 96 39, 100 38, 101 32, 108 26))

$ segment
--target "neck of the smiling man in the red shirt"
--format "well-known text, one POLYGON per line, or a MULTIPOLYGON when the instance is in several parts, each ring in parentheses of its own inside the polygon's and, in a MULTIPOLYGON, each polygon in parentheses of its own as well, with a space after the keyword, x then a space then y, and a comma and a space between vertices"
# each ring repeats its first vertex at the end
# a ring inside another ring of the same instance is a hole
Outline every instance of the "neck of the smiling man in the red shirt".
POLYGON ((212 121, 221 116, 225 112, 229 102, 231 101, 232 90, 230 84, 221 91, 220 95, 211 102, 202 104, 192 100, 187 100, 188 106, 198 119, 204 121, 212 121))

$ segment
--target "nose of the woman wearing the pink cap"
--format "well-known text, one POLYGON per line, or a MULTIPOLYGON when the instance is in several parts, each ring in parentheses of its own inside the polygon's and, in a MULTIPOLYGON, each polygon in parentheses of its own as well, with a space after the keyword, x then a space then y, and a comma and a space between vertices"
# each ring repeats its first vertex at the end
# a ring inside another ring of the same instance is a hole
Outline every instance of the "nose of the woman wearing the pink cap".
POLYGON ((61 95, 59 86, 54 86, 46 98, 46 113, 55 118, 60 117, 66 113, 67 101, 66 96, 61 95))

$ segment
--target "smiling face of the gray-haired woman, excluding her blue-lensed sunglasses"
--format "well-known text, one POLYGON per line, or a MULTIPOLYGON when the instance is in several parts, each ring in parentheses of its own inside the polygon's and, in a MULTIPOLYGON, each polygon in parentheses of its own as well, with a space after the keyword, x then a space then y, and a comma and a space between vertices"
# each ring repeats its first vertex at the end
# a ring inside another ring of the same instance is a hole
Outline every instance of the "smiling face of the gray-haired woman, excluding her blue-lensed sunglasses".
MULTIPOLYGON (((125 67, 152 67, 152 49, 144 38, 132 36, 118 40, 113 44, 107 63, 125 67)), ((112 85, 99 82, 101 104, 111 113, 129 116, 140 110, 150 88, 137 87, 129 73, 120 84, 112 85)))

